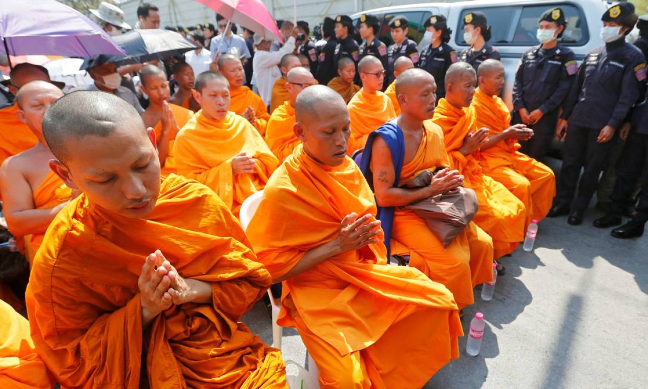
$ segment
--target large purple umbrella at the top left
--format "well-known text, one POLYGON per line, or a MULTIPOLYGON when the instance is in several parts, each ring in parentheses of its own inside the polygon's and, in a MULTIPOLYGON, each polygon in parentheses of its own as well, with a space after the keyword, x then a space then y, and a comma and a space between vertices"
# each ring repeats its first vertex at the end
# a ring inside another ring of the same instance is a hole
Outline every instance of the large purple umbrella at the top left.
POLYGON ((126 55, 96 23, 55 0, 0 0, 0 36, 0 54, 126 55))

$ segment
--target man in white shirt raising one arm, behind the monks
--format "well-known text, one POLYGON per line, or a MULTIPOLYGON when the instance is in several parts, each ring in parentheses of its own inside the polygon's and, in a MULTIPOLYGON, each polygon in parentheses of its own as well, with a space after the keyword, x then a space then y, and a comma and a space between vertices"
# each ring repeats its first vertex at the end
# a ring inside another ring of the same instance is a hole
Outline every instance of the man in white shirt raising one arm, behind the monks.
POLYGON ((272 45, 272 41, 263 38, 259 34, 254 34, 255 54, 252 61, 254 72, 252 83, 259 90, 259 96, 266 103, 266 106, 272 100, 272 85, 277 81, 277 78, 281 77, 281 70, 279 70, 281 58, 294 52, 295 38, 297 38, 296 28, 292 30, 290 38, 286 40, 281 49, 271 52, 270 45, 272 45))

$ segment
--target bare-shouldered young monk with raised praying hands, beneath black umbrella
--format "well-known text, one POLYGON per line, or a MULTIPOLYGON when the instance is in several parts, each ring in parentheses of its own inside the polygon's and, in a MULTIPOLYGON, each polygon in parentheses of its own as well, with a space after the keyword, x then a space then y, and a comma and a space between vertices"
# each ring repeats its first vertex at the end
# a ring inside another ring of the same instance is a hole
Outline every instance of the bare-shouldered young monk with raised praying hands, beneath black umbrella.
POLYGON ((176 173, 176 160, 173 145, 178 131, 194 115, 189 109, 176 104, 168 104, 170 90, 167 76, 156 65, 145 65, 139 71, 142 91, 148 95, 148 108, 142 113, 146 128, 156 131, 157 155, 162 175, 176 173))

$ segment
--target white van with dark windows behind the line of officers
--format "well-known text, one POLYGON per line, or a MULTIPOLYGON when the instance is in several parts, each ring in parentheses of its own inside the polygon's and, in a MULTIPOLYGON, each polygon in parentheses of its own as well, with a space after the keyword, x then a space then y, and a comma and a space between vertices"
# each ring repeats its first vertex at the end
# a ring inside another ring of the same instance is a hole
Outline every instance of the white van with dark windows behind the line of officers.
MULTIPOLYGON (((560 41, 570 47, 580 61, 595 47, 603 45, 599 37, 599 31, 603 27, 601 16, 610 5, 612 3, 602 0, 475 0, 389 6, 362 13, 375 15, 380 19, 382 24, 378 39, 387 45, 393 43, 389 35, 389 21, 393 17, 406 16, 410 21, 408 36, 419 43, 425 32, 423 23, 426 19, 432 15, 443 15, 448 19, 448 27, 452 29, 448 44, 461 52, 468 48, 463 40, 463 16, 474 11, 483 12, 486 14, 488 24, 492 26, 492 38, 489 42, 500 50, 506 71, 503 98, 506 104, 512 107, 511 96, 515 72, 522 54, 529 47, 538 45, 535 32, 542 12, 556 6, 562 8, 567 27, 560 41)), ((360 27, 359 17, 362 13, 351 16, 356 27, 360 27)))

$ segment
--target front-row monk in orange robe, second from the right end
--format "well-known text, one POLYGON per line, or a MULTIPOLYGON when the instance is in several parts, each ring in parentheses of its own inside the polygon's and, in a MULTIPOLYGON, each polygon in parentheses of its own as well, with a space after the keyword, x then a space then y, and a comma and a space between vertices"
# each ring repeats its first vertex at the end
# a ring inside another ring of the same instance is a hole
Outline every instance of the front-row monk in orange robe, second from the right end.
MULTIPOLYGON (((477 129, 470 106, 477 76, 465 62, 450 65, 446 72, 446 96, 439 100, 432 121, 443 129, 450 166, 464 177, 464 185, 475 191, 479 210, 473 221, 492 238, 494 258, 510 254, 524 239, 524 204, 505 186, 485 175, 479 163, 480 147, 488 129, 477 129)), ((498 265, 501 272, 502 266, 498 265)))

